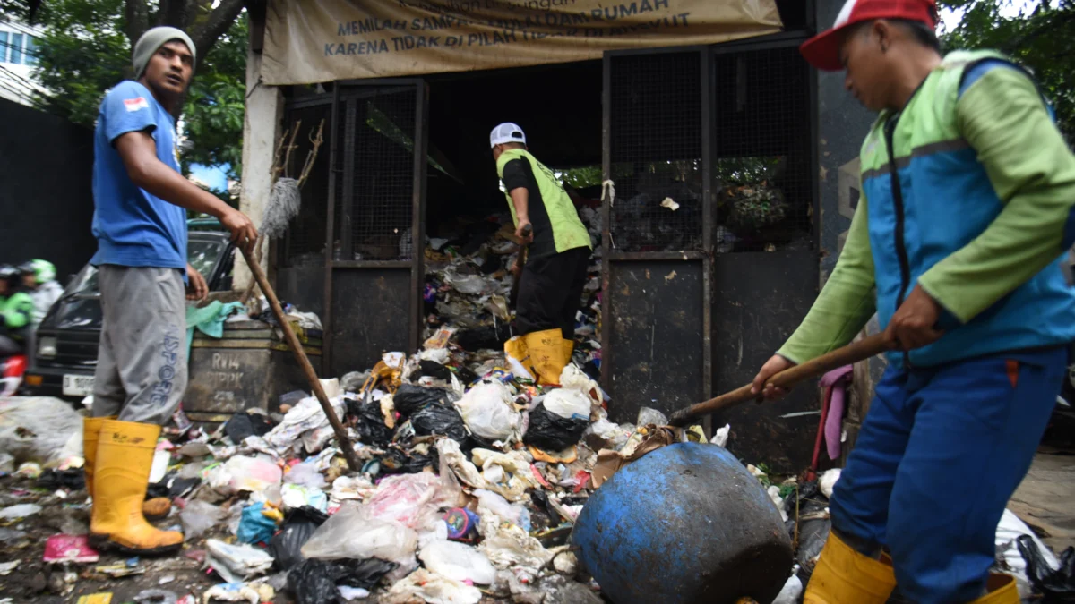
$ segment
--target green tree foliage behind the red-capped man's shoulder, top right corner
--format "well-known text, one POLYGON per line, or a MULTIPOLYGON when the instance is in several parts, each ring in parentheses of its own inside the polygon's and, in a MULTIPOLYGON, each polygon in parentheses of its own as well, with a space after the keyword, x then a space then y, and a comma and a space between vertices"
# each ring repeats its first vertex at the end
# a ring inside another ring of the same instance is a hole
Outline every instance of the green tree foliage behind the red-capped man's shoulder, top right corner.
POLYGON ((941 0, 963 12, 944 32, 945 49, 994 48, 1034 72, 1057 112, 1057 125, 1075 143, 1075 0, 941 0))

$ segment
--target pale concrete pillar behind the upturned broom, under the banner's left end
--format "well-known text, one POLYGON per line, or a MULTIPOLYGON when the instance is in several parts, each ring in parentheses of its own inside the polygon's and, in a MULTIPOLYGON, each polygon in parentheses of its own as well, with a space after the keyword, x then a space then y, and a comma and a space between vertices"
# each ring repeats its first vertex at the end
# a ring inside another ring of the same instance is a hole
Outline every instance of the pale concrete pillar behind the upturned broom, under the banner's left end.
MULTIPOLYGON (((284 109, 280 87, 260 83, 261 54, 246 53, 246 117, 243 121, 243 175, 239 208, 261 225, 261 215, 272 188, 272 161, 284 109)), ((261 267, 268 271, 268 249, 261 267)), ((242 255, 235 259, 232 289, 243 291, 253 279, 242 255)))

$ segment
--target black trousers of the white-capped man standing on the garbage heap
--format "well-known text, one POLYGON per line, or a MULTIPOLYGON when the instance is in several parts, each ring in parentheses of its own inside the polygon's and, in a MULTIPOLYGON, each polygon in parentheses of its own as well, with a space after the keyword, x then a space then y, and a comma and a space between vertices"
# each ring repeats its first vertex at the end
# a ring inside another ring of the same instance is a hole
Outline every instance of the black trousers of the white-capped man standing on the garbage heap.
POLYGON ((564 340, 575 337, 575 314, 586 287, 590 249, 576 247, 530 259, 519 277, 515 327, 524 335, 559 329, 564 340))

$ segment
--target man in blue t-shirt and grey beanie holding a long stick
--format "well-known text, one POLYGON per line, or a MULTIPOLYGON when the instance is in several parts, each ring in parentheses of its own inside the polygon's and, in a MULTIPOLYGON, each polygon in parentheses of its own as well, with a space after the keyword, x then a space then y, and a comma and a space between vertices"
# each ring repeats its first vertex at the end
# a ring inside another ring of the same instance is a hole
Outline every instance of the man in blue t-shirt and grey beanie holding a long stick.
MULTIPOLYGON (((101 102, 94 141, 94 235, 104 321, 84 423, 86 488, 94 500, 90 541, 98 548, 164 553, 183 535, 144 515, 160 427, 187 387, 187 299, 204 299, 205 279, 187 263, 187 211, 217 217, 236 245, 249 247, 249 218, 180 173, 175 118, 190 84, 195 45, 157 27, 134 45, 137 81, 101 102), (186 286, 184 284, 187 284, 186 286)), ((167 502, 164 509, 167 513, 167 502)))

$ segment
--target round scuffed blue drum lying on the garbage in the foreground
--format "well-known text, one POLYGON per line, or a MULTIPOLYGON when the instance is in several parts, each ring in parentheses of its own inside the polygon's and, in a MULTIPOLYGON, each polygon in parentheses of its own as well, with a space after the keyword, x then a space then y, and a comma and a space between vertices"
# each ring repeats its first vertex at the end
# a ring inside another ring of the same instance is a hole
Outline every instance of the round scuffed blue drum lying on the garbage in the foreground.
POLYGON ((617 472, 583 508, 572 542, 616 604, 768 604, 792 563, 758 479, 725 448, 698 443, 617 472))

